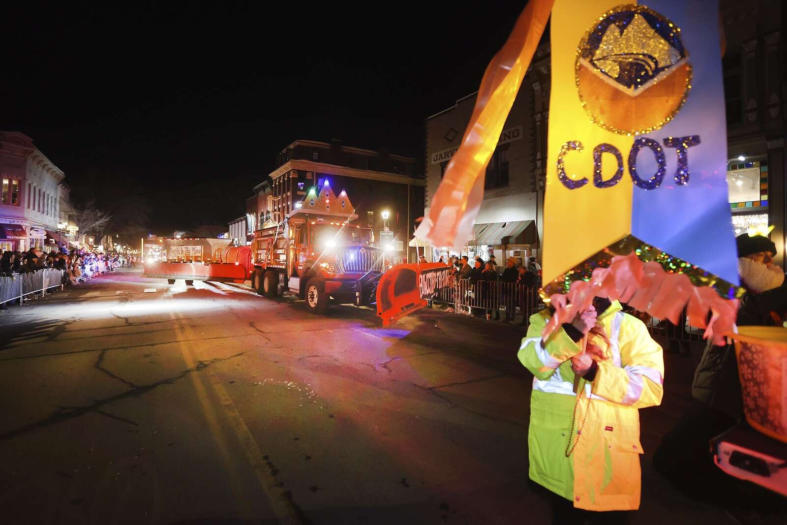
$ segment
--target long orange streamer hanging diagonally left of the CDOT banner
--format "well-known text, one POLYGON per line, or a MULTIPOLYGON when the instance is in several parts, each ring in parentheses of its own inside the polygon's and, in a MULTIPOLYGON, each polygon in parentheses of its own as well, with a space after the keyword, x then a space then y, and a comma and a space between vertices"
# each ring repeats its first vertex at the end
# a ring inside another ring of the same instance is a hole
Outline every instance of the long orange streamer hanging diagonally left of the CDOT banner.
POLYGON ((554 0, 527 2, 508 40, 486 67, 470 123, 416 230, 417 238, 456 251, 467 244, 483 200, 486 165, 500 140, 553 3, 554 0))

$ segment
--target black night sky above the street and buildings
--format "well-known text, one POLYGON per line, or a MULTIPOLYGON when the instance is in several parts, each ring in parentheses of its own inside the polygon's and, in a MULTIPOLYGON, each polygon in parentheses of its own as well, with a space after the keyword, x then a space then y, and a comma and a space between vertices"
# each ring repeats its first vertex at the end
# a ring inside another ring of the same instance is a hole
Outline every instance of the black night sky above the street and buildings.
POLYGON ((120 187, 151 231, 222 224, 295 139, 423 158, 424 119, 478 89, 525 3, 6 6, 0 129, 75 201, 120 187))

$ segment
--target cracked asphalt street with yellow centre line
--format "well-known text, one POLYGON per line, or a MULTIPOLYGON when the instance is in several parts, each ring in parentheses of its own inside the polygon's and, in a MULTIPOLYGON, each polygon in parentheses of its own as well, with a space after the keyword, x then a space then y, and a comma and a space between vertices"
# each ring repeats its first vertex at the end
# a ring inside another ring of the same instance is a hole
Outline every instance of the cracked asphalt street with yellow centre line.
MULTIPOLYGON (((0 313, 5 523, 549 523, 520 327, 139 272, 0 313)), ((692 372, 641 411, 634 523, 736 523, 649 466, 692 372)))

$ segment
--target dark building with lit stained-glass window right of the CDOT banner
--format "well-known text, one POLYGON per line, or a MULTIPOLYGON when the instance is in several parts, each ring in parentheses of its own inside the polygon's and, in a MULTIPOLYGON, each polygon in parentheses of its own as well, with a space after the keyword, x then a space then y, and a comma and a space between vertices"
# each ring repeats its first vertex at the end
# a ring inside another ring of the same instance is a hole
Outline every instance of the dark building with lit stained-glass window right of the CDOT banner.
POLYGON ((722 0, 727 183, 733 227, 773 226, 776 262, 787 249, 781 2, 722 0))

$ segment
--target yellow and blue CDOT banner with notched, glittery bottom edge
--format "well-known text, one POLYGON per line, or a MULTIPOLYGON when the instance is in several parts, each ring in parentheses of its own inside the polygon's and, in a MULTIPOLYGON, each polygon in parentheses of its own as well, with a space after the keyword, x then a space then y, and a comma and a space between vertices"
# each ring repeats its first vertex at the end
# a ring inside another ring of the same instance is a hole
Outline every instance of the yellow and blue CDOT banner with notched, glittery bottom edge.
POLYGON ((545 295, 636 253, 737 295, 715 0, 558 0, 545 295))

